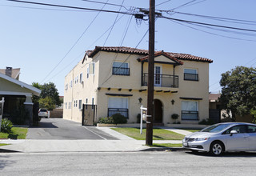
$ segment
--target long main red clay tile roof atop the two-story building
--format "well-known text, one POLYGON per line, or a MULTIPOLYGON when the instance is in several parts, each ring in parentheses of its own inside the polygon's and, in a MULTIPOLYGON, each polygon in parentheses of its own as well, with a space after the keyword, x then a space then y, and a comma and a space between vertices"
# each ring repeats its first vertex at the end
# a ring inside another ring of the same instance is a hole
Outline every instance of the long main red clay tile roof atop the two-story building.
MULTIPOLYGON (((148 50, 141 50, 137 48, 130 48, 126 46, 95 46, 95 49, 90 52, 88 55, 90 58, 93 58, 95 54, 97 54, 99 51, 106 51, 106 52, 115 52, 115 53, 123 53, 123 54, 139 54, 139 55, 147 55, 148 50)), ((158 51, 162 52, 162 51, 158 51)), ((202 58, 198 56, 194 56, 191 54, 178 54, 178 53, 170 53, 166 52, 166 54, 169 54, 170 57, 176 58, 178 60, 188 60, 188 61, 197 61, 197 62, 213 62, 213 60, 210 60, 209 58, 202 58)))

